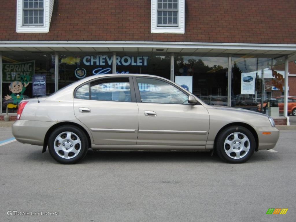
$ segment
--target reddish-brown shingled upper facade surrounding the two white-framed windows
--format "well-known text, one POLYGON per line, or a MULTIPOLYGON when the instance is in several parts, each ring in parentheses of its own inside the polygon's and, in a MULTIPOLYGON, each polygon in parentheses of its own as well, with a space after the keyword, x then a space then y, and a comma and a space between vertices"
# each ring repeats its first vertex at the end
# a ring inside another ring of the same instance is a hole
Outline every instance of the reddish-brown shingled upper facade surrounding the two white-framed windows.
POLYGON ((185 34, 150 33, 150 0, 59 0, 49 33, 16 33, 16 2, 1 4, 0 41, 296 44, 296 1, 290 0, 186 0, 185 34))

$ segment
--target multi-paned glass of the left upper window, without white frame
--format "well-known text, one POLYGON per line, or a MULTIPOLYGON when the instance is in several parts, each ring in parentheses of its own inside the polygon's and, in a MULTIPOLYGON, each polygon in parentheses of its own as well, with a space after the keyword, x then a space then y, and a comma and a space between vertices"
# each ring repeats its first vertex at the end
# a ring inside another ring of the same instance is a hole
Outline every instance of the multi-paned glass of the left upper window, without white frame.
POLYGON ((43 25, 43 0, 24 0, 23 25, 43 25))

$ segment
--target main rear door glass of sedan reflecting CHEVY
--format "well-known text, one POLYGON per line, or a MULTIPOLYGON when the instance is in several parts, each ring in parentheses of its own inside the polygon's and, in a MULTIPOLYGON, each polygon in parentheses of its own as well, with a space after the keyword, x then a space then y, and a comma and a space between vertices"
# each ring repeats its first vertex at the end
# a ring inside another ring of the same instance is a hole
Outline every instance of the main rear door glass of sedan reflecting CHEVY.
POLYGON ((128 79, 92 83, 91 100, 131 102, 131 91, 128 79))

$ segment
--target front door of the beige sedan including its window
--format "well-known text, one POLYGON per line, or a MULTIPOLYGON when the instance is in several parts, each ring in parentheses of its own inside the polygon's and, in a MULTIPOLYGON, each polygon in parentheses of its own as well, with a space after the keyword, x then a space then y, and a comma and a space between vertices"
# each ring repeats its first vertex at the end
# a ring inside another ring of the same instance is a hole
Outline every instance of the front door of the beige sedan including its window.
POLYGON ((139 107, 137 145, 205 146, 209 114, 188 104, 188 93, 168 81, 133 77, 139 107))

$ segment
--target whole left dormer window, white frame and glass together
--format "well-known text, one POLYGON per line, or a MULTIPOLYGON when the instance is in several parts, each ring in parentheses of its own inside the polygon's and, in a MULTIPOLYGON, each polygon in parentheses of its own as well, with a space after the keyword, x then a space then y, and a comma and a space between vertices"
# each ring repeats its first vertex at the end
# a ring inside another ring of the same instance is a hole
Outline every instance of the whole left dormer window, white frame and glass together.
POLYGON ((17 32, 49 32, 54 0, 17 0, 17 32))

